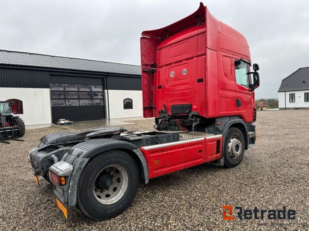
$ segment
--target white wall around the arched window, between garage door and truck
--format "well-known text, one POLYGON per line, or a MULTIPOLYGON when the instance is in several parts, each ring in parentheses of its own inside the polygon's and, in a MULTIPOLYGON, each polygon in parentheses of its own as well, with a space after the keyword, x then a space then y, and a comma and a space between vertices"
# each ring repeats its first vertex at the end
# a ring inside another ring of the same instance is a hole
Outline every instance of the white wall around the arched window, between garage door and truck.
POLYGON ((108 90, 108 99, 110 119, 143 116, 142 91, 108 90), (126 98, 133 100, 133 109, 123 109, 126 98))

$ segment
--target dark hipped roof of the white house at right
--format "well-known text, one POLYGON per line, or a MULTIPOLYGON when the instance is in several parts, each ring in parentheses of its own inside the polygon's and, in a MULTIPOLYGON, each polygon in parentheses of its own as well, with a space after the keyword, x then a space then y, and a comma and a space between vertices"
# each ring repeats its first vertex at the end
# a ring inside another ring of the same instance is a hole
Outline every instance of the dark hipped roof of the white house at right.
POLYGON ((282 79, 278 92, 304 90, 309 90, 309 67, 299 68, 285 79, 282 79))

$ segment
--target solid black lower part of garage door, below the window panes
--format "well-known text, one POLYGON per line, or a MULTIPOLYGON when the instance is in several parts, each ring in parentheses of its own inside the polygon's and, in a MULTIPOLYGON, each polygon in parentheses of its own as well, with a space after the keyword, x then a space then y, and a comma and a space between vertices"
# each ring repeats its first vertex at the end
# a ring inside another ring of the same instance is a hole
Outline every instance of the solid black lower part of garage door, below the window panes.
POLYGON ((102 120, 105 119, 105 106, 52 107, 53 123, 56 123, 58 119, 73 121, 102 120))

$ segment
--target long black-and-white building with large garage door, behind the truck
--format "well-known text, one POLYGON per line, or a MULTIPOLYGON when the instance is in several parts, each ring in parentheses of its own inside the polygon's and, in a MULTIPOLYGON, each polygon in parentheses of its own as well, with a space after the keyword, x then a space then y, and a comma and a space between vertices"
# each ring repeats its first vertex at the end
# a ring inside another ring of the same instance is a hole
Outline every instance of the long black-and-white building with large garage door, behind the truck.
POLYGON ((26 125, 139 117, 141 67, 0 50, 0 101, 26 125))

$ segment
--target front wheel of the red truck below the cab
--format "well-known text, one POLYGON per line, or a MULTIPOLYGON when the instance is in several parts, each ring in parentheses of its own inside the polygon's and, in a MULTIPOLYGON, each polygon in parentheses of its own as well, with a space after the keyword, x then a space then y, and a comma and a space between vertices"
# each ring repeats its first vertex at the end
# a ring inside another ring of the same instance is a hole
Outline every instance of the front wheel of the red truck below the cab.
POLYGON ((229 128, 223 147, 224 166, 233 168, 243 159, 245 142, 243 134, 238 128, 229 128))

